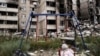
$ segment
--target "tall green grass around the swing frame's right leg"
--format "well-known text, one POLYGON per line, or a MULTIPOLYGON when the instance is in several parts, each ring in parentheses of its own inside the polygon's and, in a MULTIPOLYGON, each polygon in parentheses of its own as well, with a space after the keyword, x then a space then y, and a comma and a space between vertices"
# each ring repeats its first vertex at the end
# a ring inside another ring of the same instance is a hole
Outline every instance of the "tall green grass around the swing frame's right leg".
MULTIPOLYGON (((92 55, 100 56, 100 37, 85 37, 84 41, 92 55)), ((82 49, 81 38, 77 38, 77 42, 79 42, 79 48, 82 49)))

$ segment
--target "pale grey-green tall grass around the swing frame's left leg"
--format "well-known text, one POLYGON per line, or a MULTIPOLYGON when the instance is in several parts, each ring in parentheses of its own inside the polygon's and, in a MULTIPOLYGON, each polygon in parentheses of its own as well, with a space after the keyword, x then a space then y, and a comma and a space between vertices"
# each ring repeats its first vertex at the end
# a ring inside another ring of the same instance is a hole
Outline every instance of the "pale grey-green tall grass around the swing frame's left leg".
MULTIPOLYGON (((12 56, 12 54, 19 47, 19 40, 16 41, 5 41, 0 44, 0 56, 12 56)), ((28 43, 23 42, 22 51, 29 50, 30 45, 28 43)))

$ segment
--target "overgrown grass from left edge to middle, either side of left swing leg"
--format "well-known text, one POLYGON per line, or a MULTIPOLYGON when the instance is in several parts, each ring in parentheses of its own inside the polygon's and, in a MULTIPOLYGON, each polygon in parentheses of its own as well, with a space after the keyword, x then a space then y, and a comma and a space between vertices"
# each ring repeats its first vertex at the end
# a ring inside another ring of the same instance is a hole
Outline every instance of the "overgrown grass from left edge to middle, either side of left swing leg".
MULTIPOLYGON (((13 53, 19 48, 20 38, 6 38, 1 37, 0 39, 0 56, 12 56, 13 53)), ((60 39, 48 39, 45 40, 24 40, 22 45, 22 51, 35 51, 35 50, 55 50, 61 45, 60 39)))

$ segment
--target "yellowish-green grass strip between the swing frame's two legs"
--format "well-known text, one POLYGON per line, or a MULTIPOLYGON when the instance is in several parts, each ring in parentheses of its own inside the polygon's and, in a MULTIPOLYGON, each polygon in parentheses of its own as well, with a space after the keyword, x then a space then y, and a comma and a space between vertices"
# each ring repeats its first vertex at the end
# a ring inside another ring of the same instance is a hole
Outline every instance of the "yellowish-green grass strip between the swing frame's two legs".
POLYGON ((49 49, 57 49, 61 45, 61 41, 59 39, 49 39, 48 41, 32 41, 30 50, 49 50, 49 49))

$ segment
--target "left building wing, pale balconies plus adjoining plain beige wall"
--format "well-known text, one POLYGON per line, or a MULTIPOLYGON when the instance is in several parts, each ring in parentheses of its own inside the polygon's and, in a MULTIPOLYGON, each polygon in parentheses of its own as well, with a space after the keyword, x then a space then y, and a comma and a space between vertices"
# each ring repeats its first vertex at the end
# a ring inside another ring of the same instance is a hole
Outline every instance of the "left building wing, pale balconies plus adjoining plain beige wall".
MULTIPOLYGON (((14 33, 25 29, 33 2, 36 0, 0 0, 0 32, 14 33)), ((32 17, 31 31, 36 31, 37 20, 32 17)))

